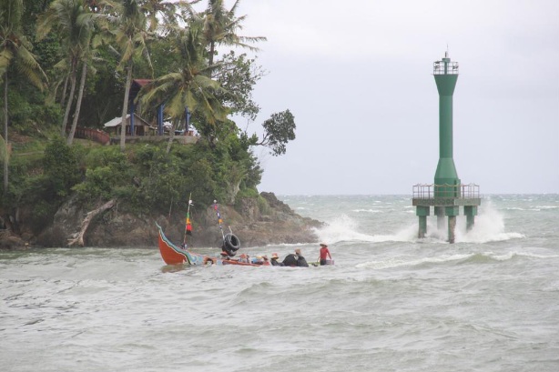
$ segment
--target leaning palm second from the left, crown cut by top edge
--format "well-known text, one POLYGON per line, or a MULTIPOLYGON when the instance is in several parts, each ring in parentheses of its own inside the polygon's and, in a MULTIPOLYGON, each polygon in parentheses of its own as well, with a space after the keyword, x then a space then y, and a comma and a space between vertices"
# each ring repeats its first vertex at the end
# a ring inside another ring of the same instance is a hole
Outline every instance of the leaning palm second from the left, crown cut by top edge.
MULTIPOLYGON (((37 25, 37 38, 41 40, 52 29, 58 31, 62 37, 67 57, 59 65, 67 65, 69 68, 70 94, 66 101, 66 109, 62 120, 61 135, 66 136, 66 125, 70 109, 74 103, 76 91, 76 75, 79 64, 82 64, 81 79, 78 88, 78 98, 74 113, 72 128, 67 137, 67 144, 72 145, 74 133, 76 132, 77 119, 81 108, 81 98, 83 97, 86 73, 87 57, 89 55, 92 35, 95 28, 95 21, 100 15, 91 10, 86 0, 55 0, 46 13, 39 18, 37 25)), ((66 87, 66 85, 65 85, 66 87)), ((66 94, 66 91, 63 95, 66 94)))

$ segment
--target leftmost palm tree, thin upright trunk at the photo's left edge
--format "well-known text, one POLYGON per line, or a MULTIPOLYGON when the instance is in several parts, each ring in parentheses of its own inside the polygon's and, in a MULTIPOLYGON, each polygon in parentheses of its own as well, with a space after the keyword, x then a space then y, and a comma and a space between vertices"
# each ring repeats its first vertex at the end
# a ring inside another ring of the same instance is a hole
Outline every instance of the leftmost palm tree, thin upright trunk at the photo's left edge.
POLYGON ((4 137, 2 138, 4 160, 4 195, 8 189, 8 78, 14 67, 33 85, 43 89, 46 75, 31 53, 31 43, 22 32, 23 0, 0 0, 0 76, 4 80, 4 137))

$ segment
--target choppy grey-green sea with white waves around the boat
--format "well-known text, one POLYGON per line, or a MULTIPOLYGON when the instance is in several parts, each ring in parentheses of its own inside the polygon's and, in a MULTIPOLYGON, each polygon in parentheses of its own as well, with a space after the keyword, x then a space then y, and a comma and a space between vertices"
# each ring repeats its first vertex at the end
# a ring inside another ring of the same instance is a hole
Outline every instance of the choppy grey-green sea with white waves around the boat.
POLYGON ((0 370, 559 371, 559 195, 483 196, 454 244, 435 216, 417 238, 411 196, 279 199, 325 223, 317 242, 241 251, 311 262, 326 243, 335 265, 166 266, 157 241, 1 252, 0 370))

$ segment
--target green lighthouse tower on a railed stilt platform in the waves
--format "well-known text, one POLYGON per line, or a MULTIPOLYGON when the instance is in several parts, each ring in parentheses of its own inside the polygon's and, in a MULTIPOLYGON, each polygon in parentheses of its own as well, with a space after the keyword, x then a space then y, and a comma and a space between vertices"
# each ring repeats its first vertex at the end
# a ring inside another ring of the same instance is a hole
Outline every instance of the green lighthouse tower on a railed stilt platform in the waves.
POLYGON ((433 206, 439 229, 444 228, 444 217, 448 217, 448 241, 454 243, 460 206, 463 206, 466 226, 471 229, 482 199, 479 186, 462 185, 452 157, 452 95, 458 80, 458 63, 452 62, 446 52, 441 61, 434 62, 433 75, 439 91, 439 164, 434 184, 413 186, 412 205, 416 206, 415 214, 419 217, 418 237, 427 234, 427 216, 433 206))

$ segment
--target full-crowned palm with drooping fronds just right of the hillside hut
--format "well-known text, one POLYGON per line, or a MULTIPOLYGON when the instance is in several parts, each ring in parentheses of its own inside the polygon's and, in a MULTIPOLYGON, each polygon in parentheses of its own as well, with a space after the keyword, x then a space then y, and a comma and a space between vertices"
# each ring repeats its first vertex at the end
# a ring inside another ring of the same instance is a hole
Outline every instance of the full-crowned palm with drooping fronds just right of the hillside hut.
POLYGON ((225 120, 227 116, 226 108, 214 96, 221 88, 208 75, 216 66, 205 64, 198 30, 180 30, 173 43, 172 53, 180 57, 177 70, 158 77, 140 92, 144 109, 165 103, 165 114, 173 123, 168 152, 174 129, 184 119, 186 107, 214 128, 217 122, 225 120))

